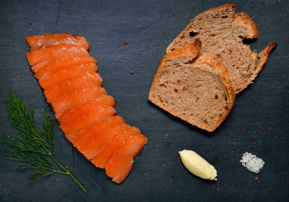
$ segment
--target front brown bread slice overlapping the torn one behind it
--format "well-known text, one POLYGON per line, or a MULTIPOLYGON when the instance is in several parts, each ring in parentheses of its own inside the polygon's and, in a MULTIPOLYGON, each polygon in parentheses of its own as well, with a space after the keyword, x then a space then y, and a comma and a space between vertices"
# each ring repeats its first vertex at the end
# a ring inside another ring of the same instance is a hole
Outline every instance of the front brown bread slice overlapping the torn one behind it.
POLYGON ((210 54, 199 56, 200 50, 196 39, 164 55, 149 100, 192 125, 213 131, 233 107, 235 92, 228 69, 210 54))

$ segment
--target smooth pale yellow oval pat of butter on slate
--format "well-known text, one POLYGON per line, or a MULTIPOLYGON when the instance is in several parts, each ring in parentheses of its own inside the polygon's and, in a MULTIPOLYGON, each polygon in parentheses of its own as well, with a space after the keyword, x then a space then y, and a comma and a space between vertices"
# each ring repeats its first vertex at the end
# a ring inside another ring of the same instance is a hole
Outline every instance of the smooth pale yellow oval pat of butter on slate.
POLYGON ((216 169, 196 152, 185 149, 179 151, 179 154, 184 166, 186 166, 191 173, 203 179, 217 180, 216 169))

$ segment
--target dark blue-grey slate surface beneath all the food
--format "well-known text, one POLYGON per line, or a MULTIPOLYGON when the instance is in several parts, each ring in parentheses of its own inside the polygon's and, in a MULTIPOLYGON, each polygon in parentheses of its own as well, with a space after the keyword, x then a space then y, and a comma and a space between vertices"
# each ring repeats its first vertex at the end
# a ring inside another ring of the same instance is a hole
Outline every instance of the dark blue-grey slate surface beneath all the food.
MULTIPOLYGON (((115 98, 118 115, 139 127, 148 144, 135 158, 127 179, 118 185, 105 175, 104 169, 96 168, 73 148, 55 125, 54 155, 89 193, 84 194, 68 176, 57 174, 24 185, 31 174, 9 169, 19 165, 18 162, 0 155, 0 201, 286 201, 288 1, 236 2, 236 12, 246 11, 259 25, 260 37, 250 43, 251 49, 260 51, 273 40, 278 47, 254 84, 237 95, 234 108, 214 132, 181 121, 147 99, 166 47, 190 19, 223 3, 221 0, 76 0, 75 3, 1 0, 0 97, 9 90, 23 93, 21 98, 34 104, 38 119, 46 102, 25 58, 29 47, 23 37, 52 32, 80 34, 90 44, 90 55, 98 60, 103 87, 115 98), (124 46, 124 41, 129 44, 124 46), (268 130, 269 127, 272 129, 268 130), (246 132, 242 133, 242 129, 246 132), (256 130, 258 133, 254 133, 256 130), (189 173, 178 160, 178 151, 183 149, 194 150, 213 164, 218 181, 203 180, 189 173), (246 151, 265 161, 259 174, 249 172, 239 163, 241 153, 246 151)), ((14 133, 15 129, 4 118, 3 106, 0 112, 1 136, 14 133)), ((1 143, 0 148, 3 147, 1 143)))

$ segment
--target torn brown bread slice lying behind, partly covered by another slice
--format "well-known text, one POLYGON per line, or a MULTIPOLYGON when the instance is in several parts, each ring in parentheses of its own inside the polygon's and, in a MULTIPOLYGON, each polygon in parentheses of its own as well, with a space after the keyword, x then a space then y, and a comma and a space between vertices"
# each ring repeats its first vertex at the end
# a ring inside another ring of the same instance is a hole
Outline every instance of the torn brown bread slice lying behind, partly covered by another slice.
POLYGON ((239 93, 260 73, 277 44, 269 43, 258 60, 257 53, 242 43, 245 38, 259 36, 257 26, 247 13, 235 14, 235 7, 226 3, 199 14, 167 47, 166 53, 199 38, 200 54, 210 53, 229 68, 234 90, 239 93))

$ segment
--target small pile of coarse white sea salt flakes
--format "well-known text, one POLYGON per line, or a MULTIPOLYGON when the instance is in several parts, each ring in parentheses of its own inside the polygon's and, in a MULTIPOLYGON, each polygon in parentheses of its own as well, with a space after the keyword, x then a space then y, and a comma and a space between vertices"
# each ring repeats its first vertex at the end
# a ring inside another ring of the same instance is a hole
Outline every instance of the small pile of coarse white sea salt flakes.
POLYGON ((242 156, 240 163, 242 163, 242 166, 247 168, 249 171, 253 173, 259 173, 265 162, 258 158, 256 155, 252 155, 251 153, 246 152, 242 156))

